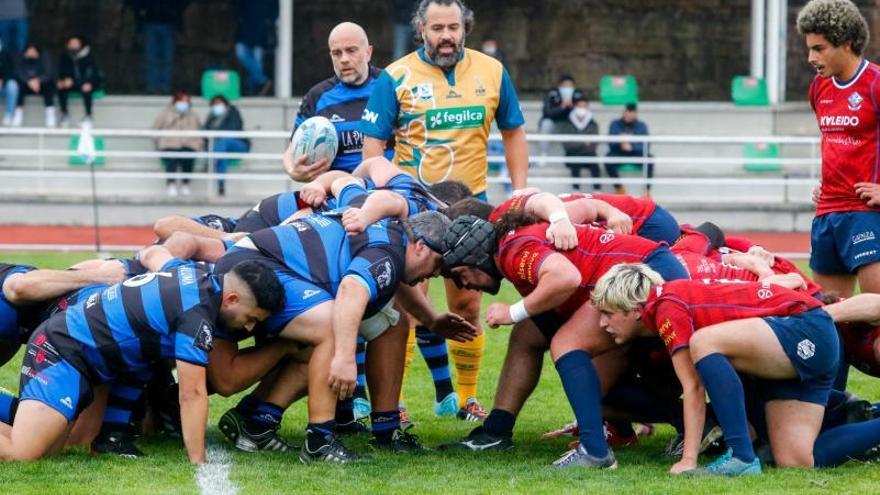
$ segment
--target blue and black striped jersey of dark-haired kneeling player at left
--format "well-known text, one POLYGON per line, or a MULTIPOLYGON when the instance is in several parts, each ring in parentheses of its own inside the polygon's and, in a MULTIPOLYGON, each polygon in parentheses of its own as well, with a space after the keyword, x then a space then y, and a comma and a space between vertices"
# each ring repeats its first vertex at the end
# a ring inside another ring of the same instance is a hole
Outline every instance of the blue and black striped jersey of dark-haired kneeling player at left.
POLYGON ((96 292, 44 323, 48 341, 92 383, 143 381, 155 363, 208 363, 222 281, 172 260, 96 292))

